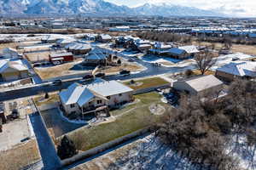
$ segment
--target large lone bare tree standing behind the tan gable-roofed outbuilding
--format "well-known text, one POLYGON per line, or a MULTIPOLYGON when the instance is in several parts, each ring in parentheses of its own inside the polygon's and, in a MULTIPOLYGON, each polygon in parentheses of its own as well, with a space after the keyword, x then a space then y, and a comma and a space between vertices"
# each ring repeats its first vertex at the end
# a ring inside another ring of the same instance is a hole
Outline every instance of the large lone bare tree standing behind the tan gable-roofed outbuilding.
POLYGON ((217 58, 208 50, 204 54, 198 54, 195 56, 195 62, 197 68, 201 71, 201 75, 204 75, 213 65, 216 64, 217 58))

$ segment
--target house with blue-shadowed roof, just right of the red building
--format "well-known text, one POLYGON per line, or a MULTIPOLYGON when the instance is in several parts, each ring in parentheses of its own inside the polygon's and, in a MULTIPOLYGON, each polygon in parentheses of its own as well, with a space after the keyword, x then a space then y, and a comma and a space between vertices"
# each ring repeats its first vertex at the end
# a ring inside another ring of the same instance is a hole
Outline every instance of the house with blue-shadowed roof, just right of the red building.
POLYGON ((94 48, 84 57, 84 65, 108 65, 113 61, 113 54, 104 48, 94 48))

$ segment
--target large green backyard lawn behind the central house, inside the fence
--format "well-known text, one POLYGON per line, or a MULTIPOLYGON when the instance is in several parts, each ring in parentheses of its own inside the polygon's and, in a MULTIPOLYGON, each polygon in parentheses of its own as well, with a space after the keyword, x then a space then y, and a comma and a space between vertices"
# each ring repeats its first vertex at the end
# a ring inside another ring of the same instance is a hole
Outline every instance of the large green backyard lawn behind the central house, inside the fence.
POLYGON ((111 111, 111 115, 116 118, 114 122, 106 122, 93 127, 81 127, 67 135, 73 139, 79 150, 90 150, 158 122, 161 116, 154 116, 148 109, 150 105, 163 105, 166 111, 169 111, 170 108, 169 105, 161 103, 161 95, 155 92, 136 95, 135 99, 138 102, 133 105, 111 111))

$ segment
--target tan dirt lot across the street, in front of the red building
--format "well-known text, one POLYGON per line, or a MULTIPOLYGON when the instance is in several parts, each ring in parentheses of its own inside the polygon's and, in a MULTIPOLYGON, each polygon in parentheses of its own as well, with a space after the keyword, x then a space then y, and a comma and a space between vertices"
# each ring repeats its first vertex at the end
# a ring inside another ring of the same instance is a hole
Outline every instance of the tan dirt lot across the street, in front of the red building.
POLYGON ((77 71, 72 70, 74 65, 78 65, 82 59, 76 59, 75 61, 63 65, 55 65, 44 68, 35 68, 34 70, 38 73, 38 76, 44 79, 63 77, 67 75, 82 74, 88 71, 77 71))

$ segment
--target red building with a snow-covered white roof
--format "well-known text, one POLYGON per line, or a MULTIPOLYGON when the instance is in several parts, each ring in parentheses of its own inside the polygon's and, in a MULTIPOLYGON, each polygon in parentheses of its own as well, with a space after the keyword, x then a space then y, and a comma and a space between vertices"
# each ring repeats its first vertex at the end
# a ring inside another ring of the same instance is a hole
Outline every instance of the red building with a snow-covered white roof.
POLYGON ((49 54, 49 62, 70 62, 73 61, 73 54, 72 53, 61 53, 61 54, 49 54))

